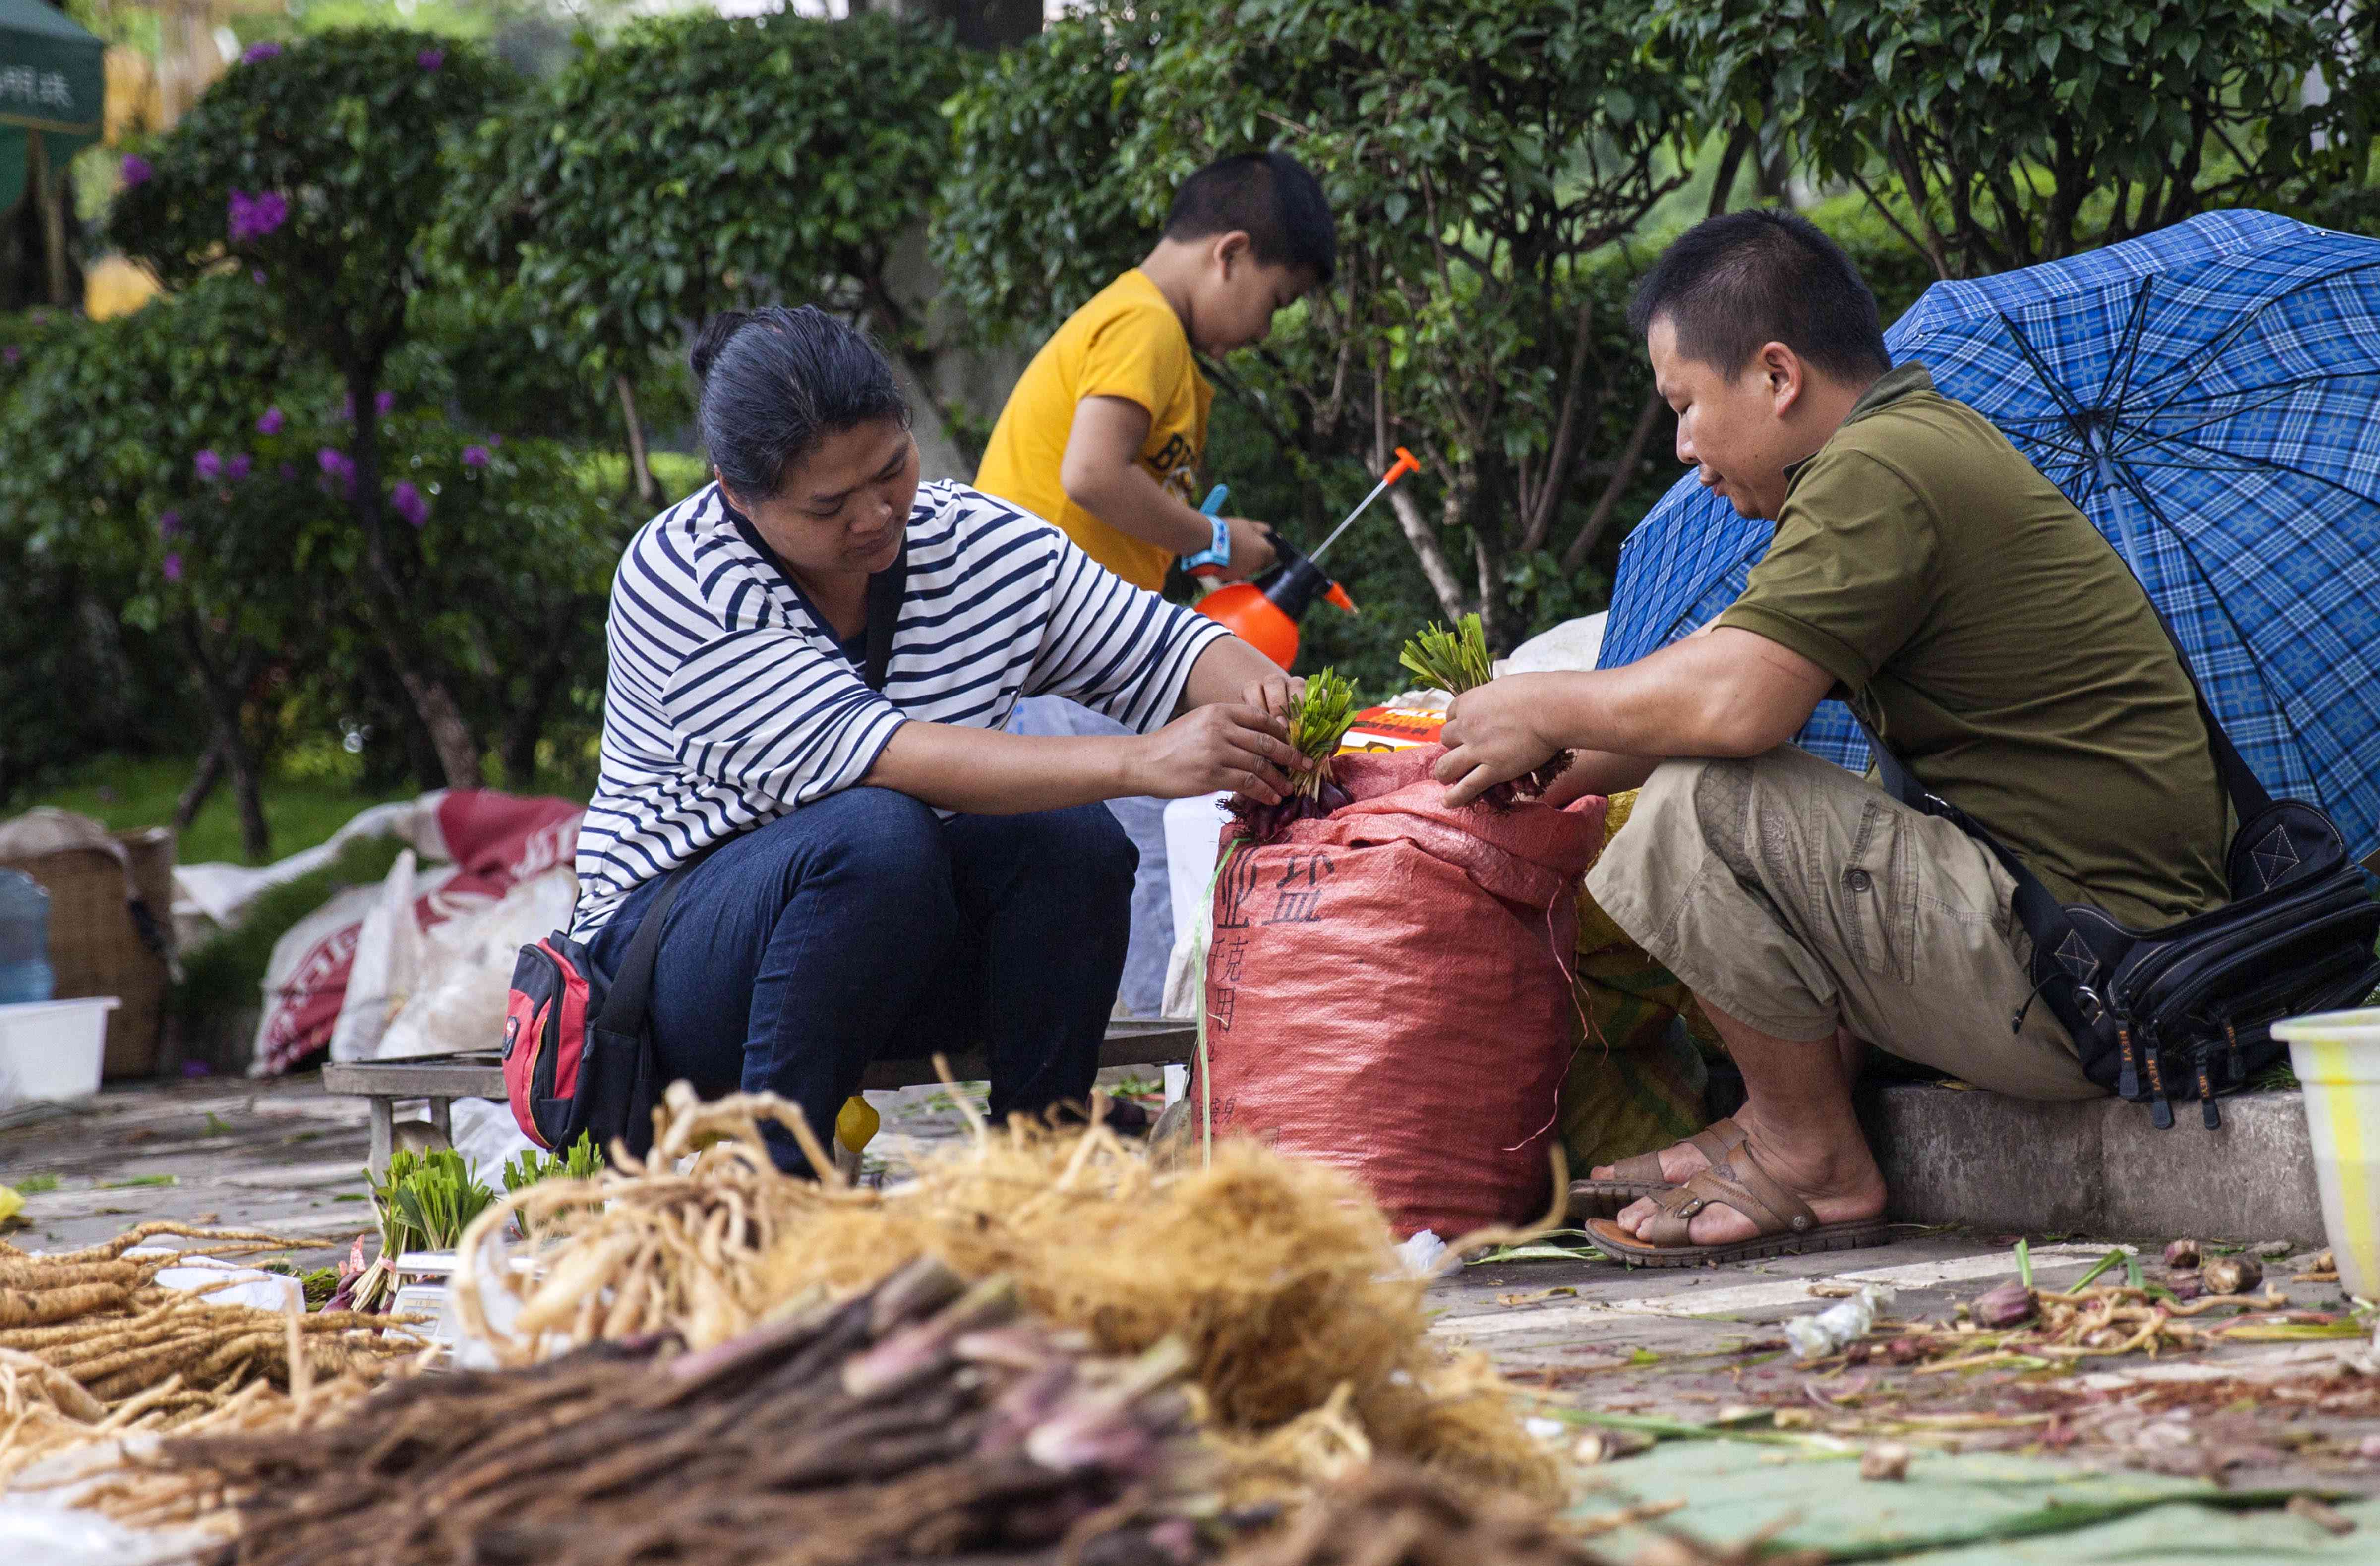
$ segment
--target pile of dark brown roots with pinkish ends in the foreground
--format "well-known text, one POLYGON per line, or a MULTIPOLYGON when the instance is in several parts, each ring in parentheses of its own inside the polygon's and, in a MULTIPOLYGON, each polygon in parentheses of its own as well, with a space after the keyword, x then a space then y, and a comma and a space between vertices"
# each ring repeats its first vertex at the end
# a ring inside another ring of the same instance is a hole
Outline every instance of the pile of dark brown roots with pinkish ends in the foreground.
POLYGON ((640 1338, 412 1376, 159 1461, 190 1485, 181 1511, 238 1509, 226 1566, 1190 1561, 1228 1518, 1171 1385, 1185 1357, 1088 1349, 1007 1280, 923 1259, 702 1352, 640 1338))

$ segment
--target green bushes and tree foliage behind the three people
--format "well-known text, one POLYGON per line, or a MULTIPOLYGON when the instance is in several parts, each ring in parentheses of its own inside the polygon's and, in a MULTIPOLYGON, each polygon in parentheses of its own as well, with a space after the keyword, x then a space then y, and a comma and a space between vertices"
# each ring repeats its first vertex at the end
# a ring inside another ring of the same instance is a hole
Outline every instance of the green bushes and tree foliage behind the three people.
POLYGON ((1314 545, 1388 447, 1426 459, 1326 562, 1359 614, 1304 626, 1304 666, 1371 690, 1428 619, 1507 650, 1604 607, 1676 474, 1626 297, 1714 205, 1804 207, 1887 319, 2211 205, 2380 231, 2363 0, 1092 0, 997 55, 605 5, 533 81, 459 36, 516 33, 536 0, 507 5, 428 33, 317 0, 105 219, 176 297, 0 317, 0 807, 226 724, 359 800, 585 788, 612 562, 702 478, 700 317, 826 302, 983 428, 983 367, 1219 152, 1304 157, 1342 271, 1209 367, 1211 478, 1314 545), (286 219, 233 240, 236 190, 286 219))

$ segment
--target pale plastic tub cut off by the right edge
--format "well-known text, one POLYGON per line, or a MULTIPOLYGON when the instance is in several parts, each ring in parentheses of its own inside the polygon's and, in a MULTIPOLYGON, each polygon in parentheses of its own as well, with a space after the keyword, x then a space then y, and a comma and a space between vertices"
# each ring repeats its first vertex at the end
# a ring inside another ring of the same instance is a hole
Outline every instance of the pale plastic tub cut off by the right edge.
POLYGON ((2340 1288, 2380 1299, 2380 1009, 2273 1023, 2306 1090, 2313 1183, 2340 1288))

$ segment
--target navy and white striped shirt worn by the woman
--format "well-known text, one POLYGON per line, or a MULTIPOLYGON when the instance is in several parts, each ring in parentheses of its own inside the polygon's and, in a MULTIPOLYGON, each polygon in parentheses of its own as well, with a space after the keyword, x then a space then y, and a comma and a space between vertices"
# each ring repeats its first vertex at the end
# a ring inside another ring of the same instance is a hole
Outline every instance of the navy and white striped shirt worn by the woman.
POLYGON ((707 486, 647 521, 612 578, 574 933, 712 840, 859 783, 904 719, 1000 728, 1019 697, 1064 695, 1147 733, 1221 635, 1047 521, 928 483, 878 695, 707 486))

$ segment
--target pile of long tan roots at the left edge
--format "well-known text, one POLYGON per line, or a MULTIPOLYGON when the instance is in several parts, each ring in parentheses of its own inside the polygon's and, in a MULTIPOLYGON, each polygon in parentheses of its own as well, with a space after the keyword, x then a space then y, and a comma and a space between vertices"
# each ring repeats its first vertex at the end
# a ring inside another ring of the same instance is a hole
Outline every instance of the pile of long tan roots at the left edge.
POLYGON ((369 1378, 421 1347, 386 1316, 276 1314, 157 1283, 176 1254, 133 1257, 181 1235, 214 1259, 286 1252, 245 1230, 143 1223, 88 1249, 0 1245, 0 1480, 100 1435, 243 1423, 300 1385, 369 1378))

